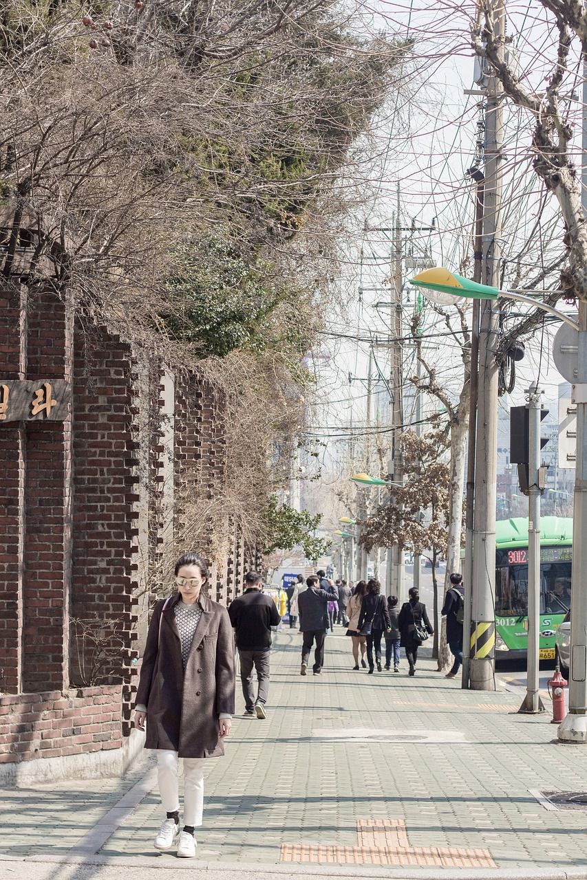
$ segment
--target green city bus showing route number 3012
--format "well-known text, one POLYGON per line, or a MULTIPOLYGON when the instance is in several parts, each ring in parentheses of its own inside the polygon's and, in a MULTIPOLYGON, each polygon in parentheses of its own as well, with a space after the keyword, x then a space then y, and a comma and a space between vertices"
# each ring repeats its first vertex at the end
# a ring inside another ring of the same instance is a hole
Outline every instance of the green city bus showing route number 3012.
MULTIPOLYGON (((554 636, 570 607, 573 520, 540 521, 540 659, 554 660, 554 636)), ((495 529, 495 658, 528 647, 528 520, 498 520, 495 529)))

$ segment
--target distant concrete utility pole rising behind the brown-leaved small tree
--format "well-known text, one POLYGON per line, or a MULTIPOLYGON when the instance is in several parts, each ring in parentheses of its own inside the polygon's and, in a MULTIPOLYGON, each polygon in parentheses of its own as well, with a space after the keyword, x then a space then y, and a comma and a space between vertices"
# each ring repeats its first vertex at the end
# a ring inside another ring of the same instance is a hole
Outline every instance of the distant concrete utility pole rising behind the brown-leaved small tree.
MULTIPOLYGON (((400 436, 404 423, 403 397, 403 358, 402 358, 402 227, 398 204, 394 223, 394 253, 391 273, 391 312, 390 312, 390 385, 392 453, 390 475, 394 483, 403 483, 404 460, 400 436)), ((404 551, 398 545, 390 547, 387 554, 388 595, 404 597, 404 551)))

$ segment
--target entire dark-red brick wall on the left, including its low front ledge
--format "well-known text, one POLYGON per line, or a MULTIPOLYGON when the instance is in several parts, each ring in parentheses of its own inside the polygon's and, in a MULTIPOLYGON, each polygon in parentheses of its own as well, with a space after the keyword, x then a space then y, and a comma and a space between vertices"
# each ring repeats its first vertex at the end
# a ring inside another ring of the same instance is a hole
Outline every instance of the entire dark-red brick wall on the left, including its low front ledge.
MULTIPOLYGON (((0 288, 0 377, 65 378, 73 391, 63 422, 0 419, 0 764, 122 744, 145 588, 182 520, 175 489, 211 509, 222 493, 212 385, 167 373, 161 400, 163 365, 139 365, 128 342, 74 314, 52 291, 0 288)), ((228 516, 207 521, 195 549, 214 563, 212 598, 228 604, 254 554, 228 516)))

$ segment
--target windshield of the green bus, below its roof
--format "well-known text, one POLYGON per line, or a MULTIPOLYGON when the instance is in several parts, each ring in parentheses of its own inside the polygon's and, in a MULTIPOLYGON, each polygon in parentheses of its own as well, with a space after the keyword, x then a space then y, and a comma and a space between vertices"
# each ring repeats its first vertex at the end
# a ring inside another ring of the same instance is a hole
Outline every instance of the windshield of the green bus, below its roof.
MULTIPOLYGON (((540 613, 565 614, 570 607, 571 547, 540 548, 540 613)), ((498 550, 495 612, 502 617, 528 613, 528 548, 498 550)))

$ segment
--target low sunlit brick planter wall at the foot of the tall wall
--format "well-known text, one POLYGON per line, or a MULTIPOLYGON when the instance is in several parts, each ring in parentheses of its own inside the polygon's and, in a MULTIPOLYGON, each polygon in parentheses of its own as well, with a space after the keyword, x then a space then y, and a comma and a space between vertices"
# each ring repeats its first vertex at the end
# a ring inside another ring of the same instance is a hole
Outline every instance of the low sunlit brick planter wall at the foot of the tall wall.
POLYGON ((0 697, 0 764, 118 749, 121 686, 0 697))

